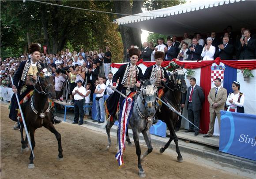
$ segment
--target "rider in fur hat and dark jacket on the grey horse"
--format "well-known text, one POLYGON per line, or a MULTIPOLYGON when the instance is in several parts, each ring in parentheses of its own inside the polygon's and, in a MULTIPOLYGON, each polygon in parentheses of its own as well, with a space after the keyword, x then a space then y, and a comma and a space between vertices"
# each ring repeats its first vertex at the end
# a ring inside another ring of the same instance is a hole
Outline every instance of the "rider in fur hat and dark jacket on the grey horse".
MULTIPOLYGON (((136 66, 136 63, 139 60, 139 49, 131 48, 129 50, 129 56, 131 62, 128 64, 124 64, 120 66, 117 73, 113 76, 113 88, 116 88, 118 91, 123 93, 124 95, 128 96, 130 92, 134 91, 135 85, 140 87, 140 79, 143 77, 142 70, 136 66), (119 84, 117 86, 117 80, 119 79, 119 84)), ((116 91, 109 96, 106 101, 107 109, 109 114, 114 116, 117 112, 117 105, 118 102, 120 104, 124 100, 124 97, 121 96, 116 91)))

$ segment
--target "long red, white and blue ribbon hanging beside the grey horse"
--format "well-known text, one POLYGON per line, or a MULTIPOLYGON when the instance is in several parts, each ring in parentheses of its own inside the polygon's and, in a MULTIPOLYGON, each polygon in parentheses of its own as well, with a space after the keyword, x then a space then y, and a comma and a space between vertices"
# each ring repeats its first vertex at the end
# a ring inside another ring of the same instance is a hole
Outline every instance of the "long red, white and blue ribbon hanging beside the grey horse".
POLYGON ((119 142, 119 150, 116 154, 116 159, 119 165, 119 168, 124 164, 123 155, 125 150, 125 138, 126 138, 126 131, 128 128, 128 122, 132 115, 132 109, 133 109, 133 100, 132 98, 126 98, 122 102, 122 105, 120 106, 120 115, 119 115, 119 124, 118 124, 118 131, 117 131, 117 137, 119 142))

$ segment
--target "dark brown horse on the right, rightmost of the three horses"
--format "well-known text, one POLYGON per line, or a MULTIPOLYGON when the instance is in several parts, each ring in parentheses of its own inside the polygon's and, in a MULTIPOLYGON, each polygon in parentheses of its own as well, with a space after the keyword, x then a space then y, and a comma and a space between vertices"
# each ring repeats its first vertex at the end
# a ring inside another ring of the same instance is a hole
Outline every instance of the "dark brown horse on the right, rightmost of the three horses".
MULTIPOLYGON (((173 73, 171 73, 169 85, 166 85, 164 90, 165 93, 161 97, 163 101, 169 103, 169 105, 173 106, 178 112, 181 109, 181 93, 185 93, 187 91, 187 85, 184 77, 185 73, 182 69, 175 69, 173 73)), ((169 107, 162 104, 160 110, 157 110, 156 115, 158 119, 161 119, 166 123, 166 126, 170 132, 170 139, 166 145, 160 149, 160 153, 163 153, 168 148, 172 140, 174 140, 176 152, 178 154, 177 161, 182 162, 183 159, 178 146, 178 138, 174 131, 174 127, 176 126, 178 120, 178 114, 174 113, 169 109, 169 107)))

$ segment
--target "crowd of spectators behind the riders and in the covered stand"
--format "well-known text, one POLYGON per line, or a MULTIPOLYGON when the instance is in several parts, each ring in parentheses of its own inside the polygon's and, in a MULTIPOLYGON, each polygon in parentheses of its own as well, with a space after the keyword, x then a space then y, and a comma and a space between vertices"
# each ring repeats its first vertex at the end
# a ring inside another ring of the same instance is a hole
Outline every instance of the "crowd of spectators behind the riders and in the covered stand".
MULTIPOLYGON (((240 34, 234 34, 232 26, 228 26, 221 37, 217 37, 216 32, 211 32, 205 38, 200 33, 189 36, 184 33, 181 41, 176 36, 167 37, 165 39, 158 38, 158 44, 152 42, 144 42, 143 48, 140 50, 141 59, 143 61, 155 61, 154 54, 156 51, 165 53, 164 60, 214 60, 220 57, 222 60, 231 59, 256 59, 256 40, 252 38, 250 30, 241 28, 240 34)), ((134 48, 134 45, 131 46, 134 48)), ((129 50, 129 49, 128 49, 129 50)), ((68 94, 70 103, 74 103, 74 95, 77 93, 77 83, 83 86, 85 104, 93 99, 93 94, 97 100, 97 117, 94 121, 102 123, 104 121, 102 96, 113 93, 111 89, 113 74, 110 72, 112 53, 109 47, 105 48, 105 52, 101 48, 98 51, 84 51, 83 48, 70 52, 65 49, 60 54, 41 53, 40 62, 50 69, 52 76, 55 77, 56 98, 63 100, 65 90, 68 83, 68 94), (75 90, 75 91, 74 91, 75 90)), ((14 75, 22 61, 30 59, 29 54, 20 54, 17 58, 6 58, 1 61, 0 85, 11 88, 10 75, 14 75)), ((130 62, 129 55, 127 62, 130 62)), ((81 93, 82 94, 82 93, 81 93)), ((80 99, 80 96, 76 96, 80 99)), ((89 115, 88 108, 84 109, 85 117, 89 115)), ((76 116, 75 123, 78 122, 76 116)), ((192 130, 192 129, 191 129, 192 130)), ((210 134, 211 135, 211 134, 210 134)))

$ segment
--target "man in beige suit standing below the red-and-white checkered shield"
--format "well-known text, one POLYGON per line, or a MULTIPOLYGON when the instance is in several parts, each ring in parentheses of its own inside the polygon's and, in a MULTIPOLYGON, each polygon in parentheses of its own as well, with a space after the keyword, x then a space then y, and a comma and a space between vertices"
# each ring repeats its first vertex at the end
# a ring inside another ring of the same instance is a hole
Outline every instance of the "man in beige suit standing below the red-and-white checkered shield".
POLYGON ((214 80, 214 85, 215 87, 211 88, 208 95, 208 102, 210 103, 209 131, 207 132, 207 135, 203 135, 203 137, 211 137, 213 135, 216 116, 218 118, 218 125, 220 128, 220 110, 224 110, 225 102, 227 99, 227 90, 222 88, 221 79, 216 78, 214 80))

